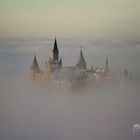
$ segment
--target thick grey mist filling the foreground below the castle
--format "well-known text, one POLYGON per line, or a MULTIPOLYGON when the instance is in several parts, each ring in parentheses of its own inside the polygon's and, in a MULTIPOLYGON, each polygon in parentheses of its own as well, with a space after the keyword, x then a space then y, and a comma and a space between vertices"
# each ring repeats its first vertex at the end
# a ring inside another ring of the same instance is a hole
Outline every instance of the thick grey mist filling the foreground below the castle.
POLYGON ((134 85, 47 89, 27 79, 1 84, 2 140, 138 140, 140 94, 134 85))

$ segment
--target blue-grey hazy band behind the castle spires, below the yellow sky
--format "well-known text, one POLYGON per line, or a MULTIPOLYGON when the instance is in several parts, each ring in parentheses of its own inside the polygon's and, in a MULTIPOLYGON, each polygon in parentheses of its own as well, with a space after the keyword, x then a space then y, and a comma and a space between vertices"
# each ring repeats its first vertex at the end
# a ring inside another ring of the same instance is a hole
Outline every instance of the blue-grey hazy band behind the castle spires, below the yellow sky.
MULTIPOLYGON (((140 79, 140 42, 134 40, 111 39, 70 39, 57 37, 60 57, 63 66, 75 66, 81 45, 88 69, 105 65, 108 55, 109 67, 112 73, 119 76, 124 69, 132 73, 135 80, 140 79)), ((27 74, 34 53, 37 54, 39 66, 44 70, 45 61, 52 55, 54 37, 1 37, 0 66, 5 74, 13 72, 27 74), (8 71, 7 71, 8 70, 8 71), (7 71, 7 73, 6 73, 7 71), (11 71, 11 72, 10 72, 11 71)))

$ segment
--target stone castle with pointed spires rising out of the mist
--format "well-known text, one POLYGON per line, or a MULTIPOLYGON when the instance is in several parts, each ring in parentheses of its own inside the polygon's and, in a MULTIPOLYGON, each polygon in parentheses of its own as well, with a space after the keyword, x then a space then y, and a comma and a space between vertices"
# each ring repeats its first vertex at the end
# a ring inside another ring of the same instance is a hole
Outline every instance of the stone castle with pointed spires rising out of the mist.
POLYGON ((39 68, 36 54, 34 54, 33 62, 30 67, 30 78, 33 82, 47 81, 49 83, 59 83, 67 85, 83 84, 101 84, 102 82, 112 81, 113 76, 108 66, 108 56, 104 67, 96 67, 93 69, 87 68, 87 63, 84 58, 82 47, 75 66, 65 67, 62 64, 62 58, 59 57, 59 49, 55 38, 52 57, 45 62, 45 70, 39 68), (90 82, 89 82, 90 81, 90 82))

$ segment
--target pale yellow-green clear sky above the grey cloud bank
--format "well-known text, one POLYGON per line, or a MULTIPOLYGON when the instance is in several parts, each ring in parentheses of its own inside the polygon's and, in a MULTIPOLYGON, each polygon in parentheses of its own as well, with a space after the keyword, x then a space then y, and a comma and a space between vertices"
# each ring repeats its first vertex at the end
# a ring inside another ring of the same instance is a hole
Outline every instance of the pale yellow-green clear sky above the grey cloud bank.
POLYGON ((0 34, 140 38, 139 0, 0 0, 0 34))

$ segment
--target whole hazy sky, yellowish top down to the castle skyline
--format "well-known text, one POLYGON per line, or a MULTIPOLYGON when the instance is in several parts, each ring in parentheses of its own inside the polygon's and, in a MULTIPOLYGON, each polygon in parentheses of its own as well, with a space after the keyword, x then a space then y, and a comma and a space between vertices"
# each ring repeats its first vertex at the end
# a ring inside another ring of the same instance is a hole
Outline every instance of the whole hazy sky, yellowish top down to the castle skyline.
POLYGON ((89 67, 104 65, 108 54, 113 71, 128 68, 139 74, 139 0, 0 0, 0 62, 8 66, 1 66, 4 72, 14 63, 22 69, 16 61, 28 55, 27 71, 34 52, 44 65, 55 36, 64 65, 75 64, 83 45, 89 67))

